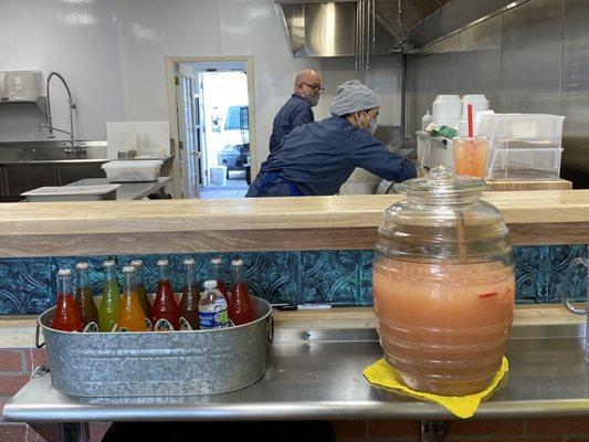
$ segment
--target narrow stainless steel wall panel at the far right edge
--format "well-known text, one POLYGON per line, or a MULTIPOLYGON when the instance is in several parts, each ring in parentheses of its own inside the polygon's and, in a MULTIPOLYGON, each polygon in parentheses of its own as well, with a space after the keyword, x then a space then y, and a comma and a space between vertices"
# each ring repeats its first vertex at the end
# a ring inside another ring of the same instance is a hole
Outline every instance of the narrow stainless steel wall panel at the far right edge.
POLYGON ((562 167, 589 173, 589 2, 565 2, 562 167))

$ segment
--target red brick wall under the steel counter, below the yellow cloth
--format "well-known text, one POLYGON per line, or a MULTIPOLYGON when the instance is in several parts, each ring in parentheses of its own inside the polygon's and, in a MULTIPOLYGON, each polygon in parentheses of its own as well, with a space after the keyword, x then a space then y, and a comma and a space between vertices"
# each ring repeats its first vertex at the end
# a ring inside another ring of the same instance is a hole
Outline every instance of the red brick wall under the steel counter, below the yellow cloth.
MULTIPOLYGON (((338 442, 419 442, 420 422, 333 422, 338 442)), ((448 423, 445 442, 589 442, 589 418, 463 420, 448 423)))

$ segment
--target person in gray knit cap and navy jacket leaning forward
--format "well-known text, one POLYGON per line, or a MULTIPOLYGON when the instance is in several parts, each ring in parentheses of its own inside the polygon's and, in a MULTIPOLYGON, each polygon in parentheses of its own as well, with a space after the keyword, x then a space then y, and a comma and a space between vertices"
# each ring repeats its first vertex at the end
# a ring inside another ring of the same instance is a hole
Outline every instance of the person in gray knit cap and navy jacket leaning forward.
POLYGON ((380 98, 354 80, 337 88, 333 117, 294 129, 262 164, 246 197, 335 194, 356 167, 388 181, 417 177, 412 161, 372 135, 380 98))

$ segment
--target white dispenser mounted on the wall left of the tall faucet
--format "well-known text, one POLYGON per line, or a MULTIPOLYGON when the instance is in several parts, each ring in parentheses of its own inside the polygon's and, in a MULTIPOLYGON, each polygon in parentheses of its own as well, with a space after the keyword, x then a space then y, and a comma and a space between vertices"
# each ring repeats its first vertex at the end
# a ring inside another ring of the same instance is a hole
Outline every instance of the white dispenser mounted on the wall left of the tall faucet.
POLYGON ((42 96, 41 71, 0 71, 0 103, 38 102, 42 96))

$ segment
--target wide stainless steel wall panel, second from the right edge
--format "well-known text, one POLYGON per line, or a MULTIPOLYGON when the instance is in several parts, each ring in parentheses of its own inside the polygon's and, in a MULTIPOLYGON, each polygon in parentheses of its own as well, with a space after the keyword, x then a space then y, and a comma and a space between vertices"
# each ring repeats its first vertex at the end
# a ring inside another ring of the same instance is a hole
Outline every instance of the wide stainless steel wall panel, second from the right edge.
POLYGON ((504 14, 502 110, 560 113, 562 0, 534 0, 504 14))

